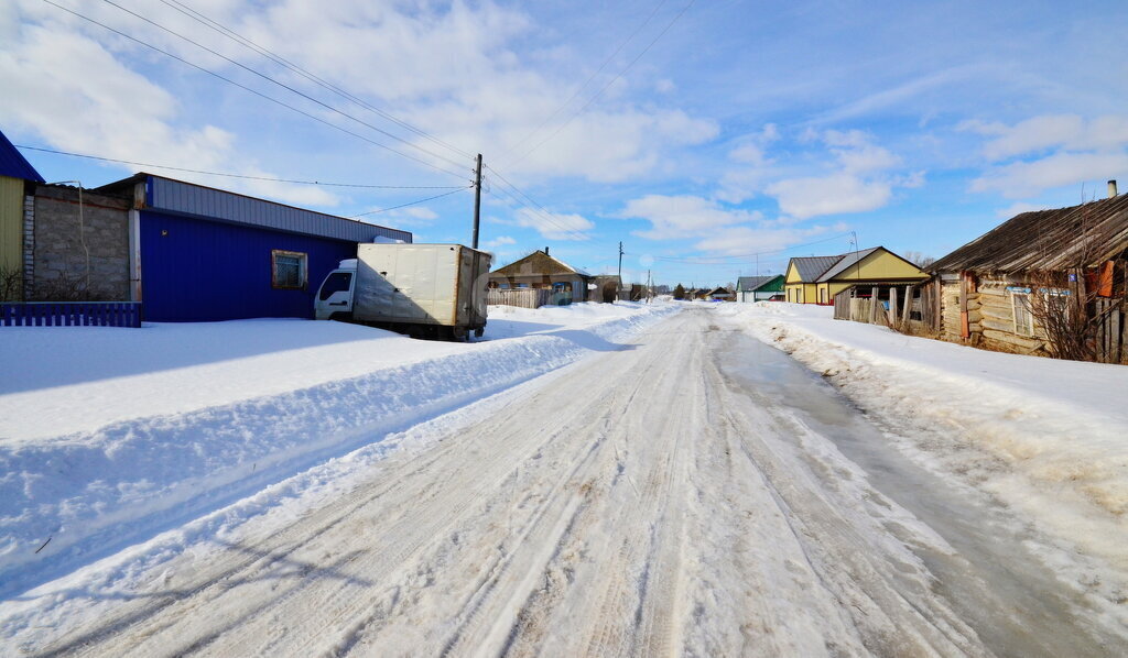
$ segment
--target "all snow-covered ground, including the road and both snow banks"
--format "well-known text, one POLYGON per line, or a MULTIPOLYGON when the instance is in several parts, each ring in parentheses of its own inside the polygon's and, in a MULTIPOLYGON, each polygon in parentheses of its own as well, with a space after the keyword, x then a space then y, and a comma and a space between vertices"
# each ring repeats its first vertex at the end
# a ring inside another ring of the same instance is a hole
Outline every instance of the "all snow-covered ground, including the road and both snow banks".
POLYGON ((785 303, 3 336, 0 652, 1128 642, 1128 368, 785 303))

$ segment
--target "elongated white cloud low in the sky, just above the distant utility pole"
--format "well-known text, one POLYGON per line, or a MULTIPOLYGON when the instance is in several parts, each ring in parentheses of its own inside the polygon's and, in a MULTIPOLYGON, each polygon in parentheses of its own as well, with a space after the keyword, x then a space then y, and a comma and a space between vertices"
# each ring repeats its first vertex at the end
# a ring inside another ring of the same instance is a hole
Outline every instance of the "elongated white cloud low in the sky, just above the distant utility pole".
POLYGON ((699 196, 661 194, 651 194, 627 202, 626 207, 617 213, 617 216, 649 221, 651 224, 649 230, 635 232, 636 235, 647 240, 699 238, 716 229, 763 219, 758 212, 725 210, 716 202, 699 196))

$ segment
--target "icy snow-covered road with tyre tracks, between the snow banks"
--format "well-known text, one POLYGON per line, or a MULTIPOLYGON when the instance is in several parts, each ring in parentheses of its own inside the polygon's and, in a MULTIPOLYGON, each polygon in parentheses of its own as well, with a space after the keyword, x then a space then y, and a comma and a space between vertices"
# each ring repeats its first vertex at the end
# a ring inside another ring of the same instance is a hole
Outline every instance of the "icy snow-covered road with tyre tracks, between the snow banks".
POLYGON ((97 615, 60 632, 29 628, 19 649, 805 657, 1123 647, 1114 624, 1037 564, 1006 509, 891 454, 831 386, 708 309, 477 402, 465 419, 376 462, 332 504, 248 523, 127 594, 68 592, 97 615))

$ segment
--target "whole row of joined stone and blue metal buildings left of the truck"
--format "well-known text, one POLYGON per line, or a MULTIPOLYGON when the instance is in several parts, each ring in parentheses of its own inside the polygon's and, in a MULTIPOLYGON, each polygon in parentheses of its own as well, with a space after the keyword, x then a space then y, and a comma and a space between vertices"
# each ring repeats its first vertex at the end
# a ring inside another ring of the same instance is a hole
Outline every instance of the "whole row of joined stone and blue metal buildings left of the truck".
POLYGON ((18 155, 0 140, 0 258, 23 270, 20 301, 142 302, 143 319, 158 322, 312 318, 321 279, 359 242, 412 241, 150 174, 95 189, 46 185, 26 160, 14 168, 18 155))

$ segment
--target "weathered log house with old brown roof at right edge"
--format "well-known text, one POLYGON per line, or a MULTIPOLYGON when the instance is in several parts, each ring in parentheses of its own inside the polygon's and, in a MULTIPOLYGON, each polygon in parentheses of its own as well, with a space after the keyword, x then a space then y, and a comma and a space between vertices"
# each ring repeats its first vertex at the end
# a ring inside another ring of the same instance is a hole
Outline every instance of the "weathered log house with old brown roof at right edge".
POLYGON ((1100 304, 1114 312, 1107 313, 1109 327, 1095 327, 1091 339, 1102 344, 1099 361, 1118 362, 1128 352, 1121 308, 1128 196, 1117 196, 1114 186, 1109 183, 1111 196, 1102 201, 1015 215, 933 264, 941 286, 941 337, 1049 354, 1039 308, 1082 304, 1079 311, 1089 313, 1100 304))

